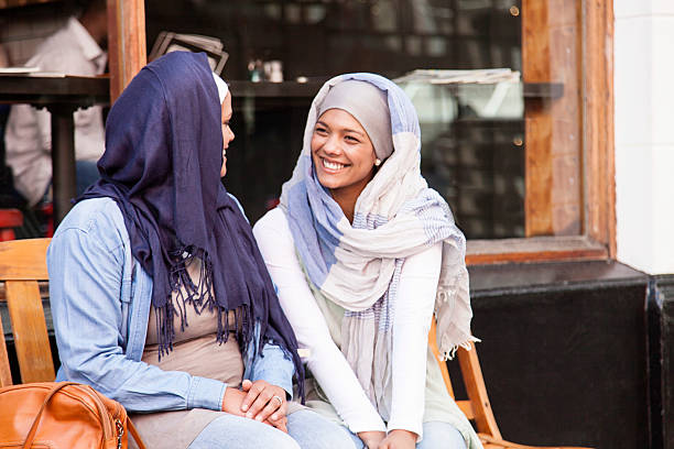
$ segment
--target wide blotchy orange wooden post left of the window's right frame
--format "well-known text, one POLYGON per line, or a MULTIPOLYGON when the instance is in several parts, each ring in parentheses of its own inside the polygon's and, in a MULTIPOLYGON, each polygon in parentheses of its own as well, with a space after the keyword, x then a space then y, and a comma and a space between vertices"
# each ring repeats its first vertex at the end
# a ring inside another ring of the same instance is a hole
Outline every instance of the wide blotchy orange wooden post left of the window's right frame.
POLYGON ((525 83, 564 83, 525 103, 525 236, 583 232, 580 0, 522 1, 525 83))

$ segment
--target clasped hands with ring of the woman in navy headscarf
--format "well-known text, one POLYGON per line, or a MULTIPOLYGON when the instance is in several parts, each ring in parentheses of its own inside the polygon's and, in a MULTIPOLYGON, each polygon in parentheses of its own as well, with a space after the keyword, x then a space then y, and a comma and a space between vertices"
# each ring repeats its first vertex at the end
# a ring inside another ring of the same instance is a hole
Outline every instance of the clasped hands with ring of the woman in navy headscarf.
POLYGON ((222 412, 268 424, 287 434, 285 390, 265 381, 241 383, 241 390, 227 387, 222 412))

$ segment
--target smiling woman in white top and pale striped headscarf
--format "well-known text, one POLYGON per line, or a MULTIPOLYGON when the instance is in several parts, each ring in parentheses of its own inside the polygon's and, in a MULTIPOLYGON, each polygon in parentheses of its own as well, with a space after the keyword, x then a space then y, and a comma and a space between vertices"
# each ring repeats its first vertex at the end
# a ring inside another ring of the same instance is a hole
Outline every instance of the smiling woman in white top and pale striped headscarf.
POLYGON ((253 233, 309 349, 307 405, 358 448, 480 448, 428 349, 470 335, 465 239, 421 176, 414 107, 372 74, 327 81, 280 207, 253 233), (313 377, 312 377, 313 376, 313 377))

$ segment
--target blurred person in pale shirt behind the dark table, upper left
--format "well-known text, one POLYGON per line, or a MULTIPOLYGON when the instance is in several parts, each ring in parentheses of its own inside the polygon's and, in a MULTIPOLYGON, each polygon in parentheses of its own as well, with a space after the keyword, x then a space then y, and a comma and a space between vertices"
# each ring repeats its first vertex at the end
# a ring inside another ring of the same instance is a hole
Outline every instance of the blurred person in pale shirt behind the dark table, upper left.
MULTIPOLYGON (((47 37, 25 64, 42 72, 96 76, 107 62, 106 0, 91 0, 76 19, 47 37)), ((75 120, 77 194, 98 179, 96 161, 104 152, 100 106, 78 110, 75 120)), ((30 105, 11 108, 4 131, 6 163, 13 173, 14 188, 35 206, 45 198, 52 182, 52 128, 45 109, 30 105)))

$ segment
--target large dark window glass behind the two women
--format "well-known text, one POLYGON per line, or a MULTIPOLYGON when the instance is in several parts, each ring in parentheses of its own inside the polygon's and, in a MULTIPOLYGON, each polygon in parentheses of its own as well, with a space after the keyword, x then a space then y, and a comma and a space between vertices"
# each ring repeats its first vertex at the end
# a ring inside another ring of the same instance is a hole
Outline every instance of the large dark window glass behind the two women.
POLYGON ((290 177, 307 108, 325 79, 346 72, 399 78, 415 69, 509 68, 513 83, 400 83, 418 111, 423 174, 447 199, 468 238, 578 233, 580 217, 568 213, 580 210, 578 116, 562 113, 578 110, 577 64, 528 78, 528 70, 535 73, 532 65, 550 68, 551 61, 577 59, 578 34, 564 22, 575 17, 575 3, 146 0, 148 44, 151 47, 163 30, 217 37, 229 53, 224 72, 228 80, 250 81, 249 67, 254 68, 257 59, 282 62, 286 83, 276 97, 264 94, 260 84, 238 84, 246 95, 232 88, 237 139, 228 153, 226 183, 241 197, 251 221, 290 177), (548 3, 556 9, 548 12, 548 3), (533 18, 529 25, 523 22, 523 8, 533 10, 536 23, 533 18), (523 45, 522 30, 531 37, 529 46, 523 45), (532 47, 541 36, 550 45, 532 47), (517 80, 523 70, 529 83, 517 80), (315 90, 287 94, 284 89, 294 88, 298 79, 315 90), (543 86, 532 89, 532 81, 543 86), (548 86, 552 81, 561 88, 557 94, 548 86), (550 120, 551 111, 557 111, 555 120, 545 128, 541 120, 550 120), (569 146, 572 136, 576 146, 569 146), (539 157, 545 169, 532 171, 539 157), (569 189, 572 182, 575 190, 569 189), (552 200, 541 204, 546 195, 552 200), (550 219, 550 226, 532 226, 541 217, 550 219))

